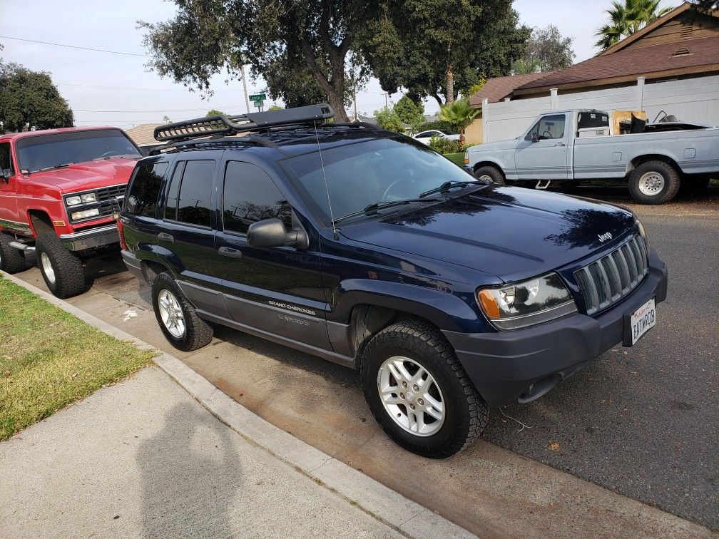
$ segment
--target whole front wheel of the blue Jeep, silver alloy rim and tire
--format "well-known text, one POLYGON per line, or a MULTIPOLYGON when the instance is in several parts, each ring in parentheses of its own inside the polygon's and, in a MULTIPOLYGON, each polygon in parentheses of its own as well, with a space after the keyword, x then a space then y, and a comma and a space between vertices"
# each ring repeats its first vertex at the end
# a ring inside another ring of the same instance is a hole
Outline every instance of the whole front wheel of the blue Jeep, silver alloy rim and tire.
POLYGON ((489 408, 446 338, 422 321, 377 333, 362 355, 362 390, 377 423, 408 451, 445 459, 479 437, 489 408))

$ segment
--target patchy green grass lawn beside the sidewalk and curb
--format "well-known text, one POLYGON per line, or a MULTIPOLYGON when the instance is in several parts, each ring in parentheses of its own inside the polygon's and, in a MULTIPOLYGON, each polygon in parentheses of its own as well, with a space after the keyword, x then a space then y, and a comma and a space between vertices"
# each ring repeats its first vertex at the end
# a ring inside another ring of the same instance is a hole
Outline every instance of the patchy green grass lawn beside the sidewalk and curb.
POLYGON ((0 277, 0 440, 152 356, 0 277))

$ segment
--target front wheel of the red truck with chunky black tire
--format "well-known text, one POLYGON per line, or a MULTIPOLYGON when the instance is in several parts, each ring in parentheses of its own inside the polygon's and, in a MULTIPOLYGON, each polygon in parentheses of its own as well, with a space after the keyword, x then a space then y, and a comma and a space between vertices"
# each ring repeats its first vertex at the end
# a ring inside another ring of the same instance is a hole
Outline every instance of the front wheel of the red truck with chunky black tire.
POLYGON ((83 261, 75 253, 68 251, 52 232, 37 236, 35 255, 45 285, 56 297, 72 298, 88 289, 83 261), (48 262, 52 273, 45 267, 48 262))

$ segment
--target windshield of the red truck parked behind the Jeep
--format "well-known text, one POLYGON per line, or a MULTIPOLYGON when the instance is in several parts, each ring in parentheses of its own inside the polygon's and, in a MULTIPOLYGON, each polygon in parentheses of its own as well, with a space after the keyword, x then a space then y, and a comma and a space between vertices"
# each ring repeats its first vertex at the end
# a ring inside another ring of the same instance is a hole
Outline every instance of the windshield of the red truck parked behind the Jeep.
POLYGON ((121 155, 137 157, 140 152, 119 129, 40 134, 17 141, 20 170, 27 172, 121 155))

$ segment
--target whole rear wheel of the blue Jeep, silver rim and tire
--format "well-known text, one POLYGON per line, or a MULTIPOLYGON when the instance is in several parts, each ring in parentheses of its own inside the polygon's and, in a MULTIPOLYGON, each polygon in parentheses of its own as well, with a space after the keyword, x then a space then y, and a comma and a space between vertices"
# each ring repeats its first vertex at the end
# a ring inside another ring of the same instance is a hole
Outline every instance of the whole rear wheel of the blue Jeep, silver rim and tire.
POLYGON ((152 307, 162 333, 176 349, 188 352, 212 341, 212 327, 197 315, 168 272, 160 273, 152 282, 152 307))

